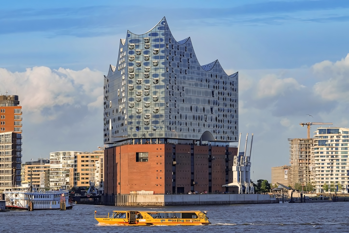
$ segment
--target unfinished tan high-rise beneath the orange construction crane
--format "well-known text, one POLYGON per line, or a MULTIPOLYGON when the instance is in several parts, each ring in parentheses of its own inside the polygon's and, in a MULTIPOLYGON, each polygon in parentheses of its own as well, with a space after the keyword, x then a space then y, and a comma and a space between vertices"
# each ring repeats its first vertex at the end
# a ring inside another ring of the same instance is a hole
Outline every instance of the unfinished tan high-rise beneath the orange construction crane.
POLYGON ((290 163, 289 184, 294 187, 300 183, 303 187, 311 183, 311 146, 312 138, 289 138, 290 163))

